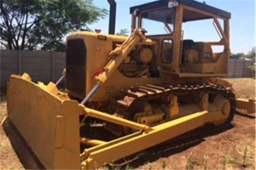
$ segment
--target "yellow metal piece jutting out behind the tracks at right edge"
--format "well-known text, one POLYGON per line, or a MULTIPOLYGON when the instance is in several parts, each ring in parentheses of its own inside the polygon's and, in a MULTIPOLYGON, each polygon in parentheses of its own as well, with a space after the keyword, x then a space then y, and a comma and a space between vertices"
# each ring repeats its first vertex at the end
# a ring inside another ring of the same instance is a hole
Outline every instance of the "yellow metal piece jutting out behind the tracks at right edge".
POLYGON ((255 100, 237 98, 236 108, 246 110, 248 114, 253 114, 255 113, 255 100))

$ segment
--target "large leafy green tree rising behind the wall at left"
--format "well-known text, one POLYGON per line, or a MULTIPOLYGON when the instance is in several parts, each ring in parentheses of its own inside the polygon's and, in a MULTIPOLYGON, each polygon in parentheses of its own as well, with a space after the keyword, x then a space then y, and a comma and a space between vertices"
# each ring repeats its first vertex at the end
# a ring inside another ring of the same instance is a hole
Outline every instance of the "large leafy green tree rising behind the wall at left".
POLYGON ((64 51, 64 37, 104 18, 93 0, 0 0, 0 44, 10 50, 64 51))

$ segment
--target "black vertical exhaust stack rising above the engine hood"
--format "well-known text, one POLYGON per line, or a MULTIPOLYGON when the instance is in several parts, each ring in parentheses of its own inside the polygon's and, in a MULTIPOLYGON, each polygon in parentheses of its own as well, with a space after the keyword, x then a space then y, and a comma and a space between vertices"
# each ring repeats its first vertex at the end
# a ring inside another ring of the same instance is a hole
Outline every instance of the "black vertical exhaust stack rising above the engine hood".
POLYGON ((108 34, 115 34, 116 2, 115 2, 115 0, 107 0, 107 1, 108 1, 109 5, 110 5, 108 34))

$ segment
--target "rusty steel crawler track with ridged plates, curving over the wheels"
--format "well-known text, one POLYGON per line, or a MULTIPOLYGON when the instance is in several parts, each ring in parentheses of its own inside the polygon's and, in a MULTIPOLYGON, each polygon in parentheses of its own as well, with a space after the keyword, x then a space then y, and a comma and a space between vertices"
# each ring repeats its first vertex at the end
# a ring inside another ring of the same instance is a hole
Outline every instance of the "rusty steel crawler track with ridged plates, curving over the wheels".
POLYGON ((118 114, 120 117, 126 117, 126 110, 135 101, 153 101, 154 99, 163 95, 174 94, 193 94, 195 92, 206 92, 208 94, 216 94, 225 96, 231 104, 231 116, 227 120, 230 122, 236 111, 236 98, 235 93, 231 87, 225 87, 212 83, 199 83, 199 84, 185 84, 185 85, 167 85, 167 84, 154 84, 154 85, 140 85, 137 87, 131 86, 127 91, 120 91, 119 96, 115 101, 110 104, 112 113, 118 114))

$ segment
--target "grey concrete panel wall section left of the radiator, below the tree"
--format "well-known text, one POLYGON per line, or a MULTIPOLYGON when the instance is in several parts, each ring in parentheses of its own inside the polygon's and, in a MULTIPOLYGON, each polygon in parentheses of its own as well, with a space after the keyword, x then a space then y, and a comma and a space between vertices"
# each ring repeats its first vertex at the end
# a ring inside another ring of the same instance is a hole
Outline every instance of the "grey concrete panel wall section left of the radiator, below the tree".
POLYGON ((5 87, 11 74, 30 74, 32 81, 57 81, 65 68, 65 52, 0 50, 0 85, 5 87))

